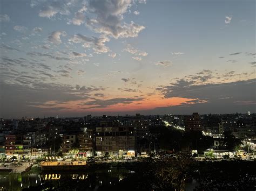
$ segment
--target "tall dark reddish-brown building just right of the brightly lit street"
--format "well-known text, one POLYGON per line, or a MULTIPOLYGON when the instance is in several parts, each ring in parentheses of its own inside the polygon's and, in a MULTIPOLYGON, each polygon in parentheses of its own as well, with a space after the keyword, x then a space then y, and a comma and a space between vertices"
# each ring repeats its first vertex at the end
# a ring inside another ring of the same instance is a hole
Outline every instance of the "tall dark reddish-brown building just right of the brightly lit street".
POLYGON ((185 131, 203 131, 201 119, 198 113, 185 117, 185 131))

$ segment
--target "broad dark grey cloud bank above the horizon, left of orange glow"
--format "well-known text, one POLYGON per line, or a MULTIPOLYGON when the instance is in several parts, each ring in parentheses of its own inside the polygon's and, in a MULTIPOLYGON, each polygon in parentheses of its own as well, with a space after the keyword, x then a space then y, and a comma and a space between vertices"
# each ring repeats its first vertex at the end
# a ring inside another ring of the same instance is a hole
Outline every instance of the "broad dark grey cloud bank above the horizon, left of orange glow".
POLYGON ((86 100, 94 91, 104 90, 103 87, 73 87, 60 83, 37 82, 37 77, 29 76, 29 79, 27 77, 17 77, 15 84, 0 80, 0 89, 4 89, 4 91, 0 91, 1 117, 49 116, 56 114, 55 112, 60 109, 64 109, 59 108, 58 103, 86 100), (39 108, 40 105, 49 107, 49 101, 53 101, 56 107, 51 109, 39 108))

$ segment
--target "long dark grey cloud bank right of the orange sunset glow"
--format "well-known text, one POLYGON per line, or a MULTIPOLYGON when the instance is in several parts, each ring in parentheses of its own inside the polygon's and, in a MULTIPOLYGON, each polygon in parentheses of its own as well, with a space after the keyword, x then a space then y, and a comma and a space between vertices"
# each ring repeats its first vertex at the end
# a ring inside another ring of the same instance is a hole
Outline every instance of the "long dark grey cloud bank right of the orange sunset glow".
POLYGON ((211 108, 211 113, 222 114, 233 113, 238 110, 240 112, 255 112, 255 84, 256 79, 200 85, 185 79, 179 79, 176 83, 171 83, 170 86, 162 86, 156 90, 160 91, 166 98, 192 98, 198 100, 198 103, 184 103, 177 107, 158 108, 152 112, 160 114, 163 112, 189 114, 197 111, 208 114, 209 108, 211 108))

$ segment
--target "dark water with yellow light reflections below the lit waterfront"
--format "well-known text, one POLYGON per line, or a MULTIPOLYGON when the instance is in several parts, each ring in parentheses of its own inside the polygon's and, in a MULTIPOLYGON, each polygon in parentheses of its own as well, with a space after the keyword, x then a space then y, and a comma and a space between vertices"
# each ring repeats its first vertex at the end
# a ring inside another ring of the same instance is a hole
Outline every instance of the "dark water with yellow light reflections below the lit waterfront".
POLYGON ((127 176, 134 173, 125 169, 107 169, 97 172, 43 172, 43 173, 10 173, 0 174, 0 186, 6 190, 22 190, 41 185, 55 188, 79 188, 84 190, 100 190, 117 185, 127 176))

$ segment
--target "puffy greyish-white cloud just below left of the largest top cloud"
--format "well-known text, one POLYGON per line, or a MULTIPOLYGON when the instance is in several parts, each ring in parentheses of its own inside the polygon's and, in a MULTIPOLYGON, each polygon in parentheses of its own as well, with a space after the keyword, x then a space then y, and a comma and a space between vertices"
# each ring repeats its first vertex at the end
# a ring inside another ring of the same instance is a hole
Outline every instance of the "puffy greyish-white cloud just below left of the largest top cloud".
POLYGON ((109 52, 109 47, 105 46, 105 43, 108 42, 110 39, 105 36, 97 37, 86 37, 82 34, 75 34, 73 37, 69 39, 72 43, 83 43, 83 47, 85 48, 92 48, 93 51, 96 53, 105 53, 109 52))

